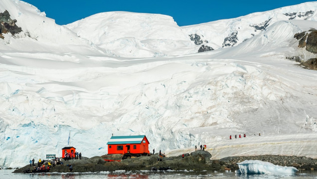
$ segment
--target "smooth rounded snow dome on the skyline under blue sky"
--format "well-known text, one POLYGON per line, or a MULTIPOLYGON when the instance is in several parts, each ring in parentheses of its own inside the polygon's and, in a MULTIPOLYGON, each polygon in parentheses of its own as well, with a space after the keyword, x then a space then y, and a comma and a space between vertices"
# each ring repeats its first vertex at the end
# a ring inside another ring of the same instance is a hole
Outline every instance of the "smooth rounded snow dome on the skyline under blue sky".
MULTIPOLYGON (((125 11, 103 12, 66 25, 79 37, 122 57, 156 57, 198 49, 171 16, 125 11), (192 49, 193 48, 193 49, 192 49)), ((188 53, 188 52, 187 52, 188 53)))

